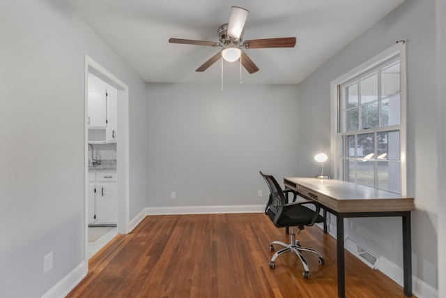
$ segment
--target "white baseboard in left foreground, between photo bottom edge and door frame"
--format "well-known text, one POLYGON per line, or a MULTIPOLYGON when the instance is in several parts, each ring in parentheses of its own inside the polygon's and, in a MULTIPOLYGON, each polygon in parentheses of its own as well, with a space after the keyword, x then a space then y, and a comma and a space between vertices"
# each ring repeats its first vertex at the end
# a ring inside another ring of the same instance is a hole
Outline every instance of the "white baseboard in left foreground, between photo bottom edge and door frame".
POLYGON ((75 269, 67 274, 65 277, 56 283, 48 292, 46 292, 42 298, 60 298, 66 297, 68 293, 71 292, 72 289, 75 288, 77 284, 79 284, 82 279, 86 276, 88 271, 88 267, 84 261, 77 265, 75 269))

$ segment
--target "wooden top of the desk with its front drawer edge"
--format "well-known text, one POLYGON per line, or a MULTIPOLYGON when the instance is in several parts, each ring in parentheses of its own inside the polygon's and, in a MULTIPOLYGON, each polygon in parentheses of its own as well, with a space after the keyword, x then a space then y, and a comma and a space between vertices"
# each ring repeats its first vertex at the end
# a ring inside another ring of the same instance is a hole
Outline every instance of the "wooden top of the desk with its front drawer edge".
POLYGON ((414 198, 336 179, 286 177, 287 188, 338 212, 412 211, 414 198))

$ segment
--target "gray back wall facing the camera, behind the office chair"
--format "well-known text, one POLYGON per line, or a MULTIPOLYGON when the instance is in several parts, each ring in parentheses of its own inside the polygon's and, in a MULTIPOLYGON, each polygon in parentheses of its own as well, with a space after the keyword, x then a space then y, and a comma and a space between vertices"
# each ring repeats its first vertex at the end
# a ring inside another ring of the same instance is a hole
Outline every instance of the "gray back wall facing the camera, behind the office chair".
POLYGON ((147 96, 148 207, 265 204, 259 170, 297 173, 297 85, 151 83, 147 96))

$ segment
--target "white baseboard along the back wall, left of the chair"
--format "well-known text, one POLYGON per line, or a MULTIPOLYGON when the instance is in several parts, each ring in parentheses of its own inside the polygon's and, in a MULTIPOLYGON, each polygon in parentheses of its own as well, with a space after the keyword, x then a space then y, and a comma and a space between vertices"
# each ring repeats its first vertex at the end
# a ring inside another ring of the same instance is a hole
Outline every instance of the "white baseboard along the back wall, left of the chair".
POLYGON ((261 213, 265 205, 147 207, 146 215, 261 213))

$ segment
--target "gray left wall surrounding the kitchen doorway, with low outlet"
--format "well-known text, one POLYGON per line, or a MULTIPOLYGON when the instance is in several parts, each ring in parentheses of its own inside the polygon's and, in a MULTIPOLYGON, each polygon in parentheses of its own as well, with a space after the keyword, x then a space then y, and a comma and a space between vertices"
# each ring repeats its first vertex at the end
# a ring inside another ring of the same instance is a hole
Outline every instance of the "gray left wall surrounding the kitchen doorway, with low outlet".
POLYGON ((0 36, 0 296, 40 297, 84 261, 84 54, 130 87, 130 219, 146 206, 146 84, 65 1, 3 0, 0 36))

